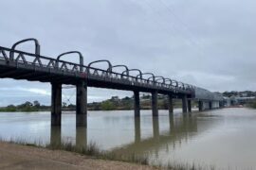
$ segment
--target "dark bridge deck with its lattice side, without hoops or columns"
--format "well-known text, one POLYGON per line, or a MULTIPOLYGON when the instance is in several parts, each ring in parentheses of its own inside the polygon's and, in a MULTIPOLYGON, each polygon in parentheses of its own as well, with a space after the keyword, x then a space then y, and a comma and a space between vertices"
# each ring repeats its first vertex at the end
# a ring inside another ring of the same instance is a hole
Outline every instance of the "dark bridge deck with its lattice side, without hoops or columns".
POLYGON ((85 80, 90 87, 118 89, 127 91, 174 93, 175 95, 192 94, 189 87, 154 82, 152 80, 125 76, 98 68, 46 58, 23 51, 15 50, 15 59, 10 60, 11 49, 0 46, 0 77, 27 79, 29 81, 56 82, 62 84, 77 84, 85 80), (56 66, 56 62, 58 66, 56 66), (82 68, 83 71, 80 71, 82 68))

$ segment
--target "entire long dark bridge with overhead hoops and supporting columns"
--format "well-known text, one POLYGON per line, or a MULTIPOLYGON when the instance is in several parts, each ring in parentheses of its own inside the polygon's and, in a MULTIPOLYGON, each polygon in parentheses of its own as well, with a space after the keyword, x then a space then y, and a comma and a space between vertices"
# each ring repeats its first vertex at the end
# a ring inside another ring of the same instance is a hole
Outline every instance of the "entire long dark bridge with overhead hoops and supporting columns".
POLYGON ((0 77, 26 79, 51 83, 51 126, 61 126, 62 85, 74 85, 76 94, 76 126, 87 126, 87 87, 117 89, 134 92, 135 117, 139 117, 139 93, 152 93, 153 116, 158 116, 158 93, 168 96, 170 114, 174 112, 173 99, 182 100, 184 113, 192 111, 192 100, 198 102, 199 110, 223 107, 223 97, 219 93, 176 81, 169 77, 143 73, 139 69, 130 69, 126 65, 113 65, 109 60, 101 59, 84 65, 82 53, 68 51, 58 57, 49 58, 40 53, 40 44, 36 39, 26 39, 14 43, 11 48, 0 46, 0 77), (24 42, 33 42, 35 53, 17 49, 24 42), (79 63, 62 59, 76 55, 79 63), (104 62, 107 69, 95 68, 96 63, 104 62), (122 72, 115 71, 122 68, 122 72), (134 76, 136 75, 136 76, 134 76))

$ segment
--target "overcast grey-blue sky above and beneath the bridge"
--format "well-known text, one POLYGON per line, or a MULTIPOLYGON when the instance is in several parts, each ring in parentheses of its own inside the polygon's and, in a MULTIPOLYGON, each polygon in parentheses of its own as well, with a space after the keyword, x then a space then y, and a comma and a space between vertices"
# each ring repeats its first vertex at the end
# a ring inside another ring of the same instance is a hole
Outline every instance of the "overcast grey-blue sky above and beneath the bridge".
MULTIPOLYGON (((1 46, 33 37, 52 58, 79 50, 85 64, 109 59, 210 91, 256 91, 254 0, 1 0, 0 7, 1 46)), ((64 90, 64 101, 73 102, 74 91, 64 90)), ((89 102, 112 95, 132 93, 88 90, 89 102)), ((26 100, 49 104, 50 85, 0 79, 0 106, 26 100)))

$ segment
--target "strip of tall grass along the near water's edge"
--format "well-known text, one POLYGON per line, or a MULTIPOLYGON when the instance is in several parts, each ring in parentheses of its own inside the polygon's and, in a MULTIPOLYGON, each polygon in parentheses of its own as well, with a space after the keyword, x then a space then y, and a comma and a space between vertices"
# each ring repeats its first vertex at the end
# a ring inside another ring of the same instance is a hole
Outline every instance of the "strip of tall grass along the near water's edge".
POLYGON ((64 150, 74 153, 79 153, 84 156, 89 156, 92 159, 100 159, 105 161, 123 161, 123 162, 131 162, 142 165, 149 165, 155 167, 155 169, 170 169, 170 170, 201 170, 201 169, 215 169, 214 166, 200 165, 200 164, 189 164, 189 163, 180 163, 176 161, 169 161, 167 164, 161 164, 160 161, 150 161, 150 155, 145 154, 143 156, 137 156, 135 153, 132 154, 122 154, 115 153, 112 151, 104 151, 101 150, 100 147, 95 143, 89 143, 86 147, 76 147, 72 143, 62 143, 62 144, 46 144, 42 146, 40 142, 34 142, 33 144, 27 143, 24 140, 16 139, 16 140, 3 140, 2 142, 8 142, 10 144, 22 144, 32 147, 44 147, 50 150, 64 150))

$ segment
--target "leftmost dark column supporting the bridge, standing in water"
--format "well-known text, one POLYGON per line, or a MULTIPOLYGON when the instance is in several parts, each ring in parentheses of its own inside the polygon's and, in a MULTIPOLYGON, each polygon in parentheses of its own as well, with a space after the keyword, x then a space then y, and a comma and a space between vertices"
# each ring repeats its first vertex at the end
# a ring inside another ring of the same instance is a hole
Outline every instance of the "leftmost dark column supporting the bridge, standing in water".
POLYGON ((62 84, 51 84, 51 126, 62 124, 62 84))

